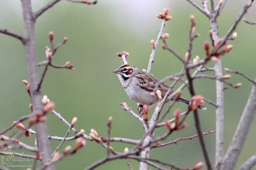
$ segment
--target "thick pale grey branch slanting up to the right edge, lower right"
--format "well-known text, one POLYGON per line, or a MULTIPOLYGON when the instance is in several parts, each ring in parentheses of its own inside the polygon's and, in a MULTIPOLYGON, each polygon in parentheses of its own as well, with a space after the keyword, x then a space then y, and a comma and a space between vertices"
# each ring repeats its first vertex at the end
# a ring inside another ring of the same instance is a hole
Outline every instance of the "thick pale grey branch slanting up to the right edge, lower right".
POLYGON ((251 124, 253 123, 256 110, 256 86, 253 85, 250 97, 235 131, 232 142, 221 163, 221 170, 233 170, 244 146, 251 124))

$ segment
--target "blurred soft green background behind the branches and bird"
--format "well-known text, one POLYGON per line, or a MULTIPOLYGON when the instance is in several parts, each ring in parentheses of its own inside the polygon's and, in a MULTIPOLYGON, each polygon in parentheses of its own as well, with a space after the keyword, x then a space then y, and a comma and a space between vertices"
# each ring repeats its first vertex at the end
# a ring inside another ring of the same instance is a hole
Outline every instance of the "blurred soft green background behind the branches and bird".
MULTIPOLYGON (((34 0, 33 11, 40 9, 48 2, 50 0, 34 0)), ((201 5, 201 0, 195 0, 195 2, 201 5)), ((220 37, 225 35, 242 12, 243 6, 248 2, 232 0, 226 3, 218 19, 220 37)), ((217 2, 215 1, 215 3, 217 2)), ((255 4, 253 5, 245 18, 256 22, 256 7, 255 4)), ((129 52, 128 63, 140 69, 147 69, 149 55, 152 51, 150 39, 156 40, 161 26, 161 20, 157 19, 156 15, 158 12, 162 12, 164 7, 170 7, 170 15, 172 15, 172 19, 166 22, 164 27, 164 33, 170 34, 167 43, 181 56, 185 55, 188 49, 189 17, 193 14, 197 22, 195 32, 201 36, 194 41, 192 56, 194 58, 198 55, 203 58, 202 44, 206 40, 210 41, 209 20, 186 1, 99 0, 97 5, 61 1, 36 20, 38 62, 46 59, 44 48, 50 46, 49 31, 54 31, 55 45, 61 42, 63 37, 68 37, 67 43, 57 51, 52 62, 56 65, 64 65, 66 61, 71 61, 75 70, 49 68, 43 81, 42 94, 47 95, 51 101, 55 102, 55 110, 61 113, 67 121, 71 122, 73 117, 78 117, 76 129, 85 129, 86 134, 89 134, 90 129, 93 128, 101 136, 107 136, 106 123, 108 117, 112 116, 112 137, 140 139, 144 135, 142 124, 119 105, 120 102, 126 102, 132 110, 137 111, 137 104, 129 99, 117 75, 112 71, 123 64, 122 59, 116 56, 116 53, 121 51, 129 52)), ((23 33, 22 9, 19 0, 1 0, 0 15, 2 16, 0 17, 1 28, 23 33)), ((234 49, 223 56, 223 68, 240 70, 247 76, 255 78, 255 31, 256 26, 248 25, 243 21, 240 22, 236 29, 238 37, 234 41, 228 41, 228 44, 234 45, 234 49)), ((156 50, 151 71, 158 79, 180 72, 182 69, 181 62, 171 53, 162 49, 161 44, 162 42, 159 43, 159 48, 156 50)), ((12 37, 0 34, 0 55, 0 108, 2 115, 0 131, 3 131, 19 117, 30 114, 28 106, 31 102, 26 87, 21 82, 23 79, 28 80, 23 45, 12 37)), ((208 66, 213 65, 213 62, 210 62, 208 66)), ((40 76, 43 68, 43 66, 39 68, 40 76)), ((224 72, 224 74, 226 73, 224 72)), ((228 87, 228 90, 225 90, 225 151, 232 140, 252 87, 252 83, 239 75, 232 75, 229 81, 232 83, 241 82, 242 87, 234 89, 225 85, 228 87)), ((167 84, 170 83, 167 82, 167 84)), ((175 89, 178 88, 178 85, 175 89)), ((208 100, 213 102, 216 100, 214 80, 196 80, 195 91, 208 100)), ((190 95, 186 88, 183 90, 182 96, 189 98, 190 95)), ((202 131, 215 130, 214 107, 207 103, 204 106, 208 109, 206 111, 200 110, 202 131)), ((166 119, 171 119, 173 111, 177 108, 185 111, 187 105, 176 104, 166 119)), ((150 114, 153 110, 154 107, 150 110, 150 114)), ((166 110, 166 107, 163 110, 166 110)), ((48 114, 47 119, 49 135, 64 136, 66 134, 67 126, 56 116, 48 114)), ((192 114, 187 117, 186 122, 188 123, 187 128, 171 134, 166 142, 195 135, 196 130, 192 114)), ((255 128, 254 122, 236 169, 256 151, 254 148, 256 133, 253 130, 255 128)), ((13 129, 7 135, 17 131, 17 129, 13 129)), ((159 128, 156 129, 155 135, 161 135, 164 132, 166 132, 165 128, 159 128)), ((69 136, 73 136, 73 133, 69 136)), ((215 135, 209 134, 205 136, 205 139, 214 164, 215 135)), ((35 136, 32 135, 29 138, 22 136, 20 141, 33 146, 35 136)), ((73 146, 74 142, 65 142, 60 151, 63 151, 67 145, 73 146)), ((52 140, 52 150, 59 143, 60 141, 52 140)), ((123 152, 125 147, 133 148, 132 145, 124 143, 111 143, 111 146, 119 152, 123 152)), ((28 152, 25 151, 25 153, 28 152)), ((55 167, 56 169, 73 167, 83 169, 105 155, 106 150, 104 148, 95 142, 87 141, 86 146, 78 153, 57 162, 55 167)), ((197 138, 180 141, 177 145, 156 148, 151 151, 150 158, 175 163, 176 166, 184 168, 192 168, 197 162, 204 161, 197 138)), ((134 160, 130 161, 133 169, 138 169, 139 163, 134 160)), ((32 164, 33 162, 26 163, 26 165, 32 164)), ((37 166, 40 167, 40 163, 37 166)), ((150 168, 154 169, 153 167, 150 168)), ((115 160, 96 169, 128 169, 128 166, 125 160, 115 160)))

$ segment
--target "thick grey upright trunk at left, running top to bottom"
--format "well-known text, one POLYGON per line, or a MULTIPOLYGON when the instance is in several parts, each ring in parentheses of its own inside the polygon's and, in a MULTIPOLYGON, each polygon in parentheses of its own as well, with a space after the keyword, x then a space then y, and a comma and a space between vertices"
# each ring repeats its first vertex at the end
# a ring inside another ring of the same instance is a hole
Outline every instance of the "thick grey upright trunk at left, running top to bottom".
MULTIPOLYGON (((26 61, 28 69, 28 77, 30 84, 31 101, 33 107, 33 115, 37 119, 35 112, 43 114, 42 94, 41 91, 37 91, 39 77, 38 66, 36 60, 36 44, 35 44, 35 20, 33 19, 33 11, 31 7, 31 0, 21 0, 23 20, 24 20, 24 36, 28 41, 24 44, 26 52, 26 61)), ((35 123, 36 128, 36 140, 39 152, 45 152, 45 156, 51 155, 50 142, 47 138, 48 131, 46 122, 35 123)), ((43 160, 49 161, 49 160, 43 160)), ((47 167, 47 170, 54 170, 53 166, 47 167)))

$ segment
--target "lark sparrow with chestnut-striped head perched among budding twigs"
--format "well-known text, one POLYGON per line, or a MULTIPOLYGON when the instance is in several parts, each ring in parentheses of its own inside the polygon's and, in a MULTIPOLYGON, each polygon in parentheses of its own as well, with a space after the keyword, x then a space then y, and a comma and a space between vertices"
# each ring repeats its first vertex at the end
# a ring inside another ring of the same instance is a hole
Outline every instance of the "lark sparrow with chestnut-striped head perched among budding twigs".
MULTIPOLYGON (((141 105, 153 105, 159 101, 157 95, 151 95, 151 92, 155 90, 155 85, 159 80, 146 71, 142 71, 131 65, 121 65, 118 69, 113 71, 113 73, 118 74, 119 80, 131 100, 141 105)), ((160 83, 157 89, 160 90, 163 98, 165 93, 168 91, 169 86, 165 83, 160 83)), ((173 90, 171 93, 173 93, 173 90)), ((178 98, 177 101, 190 104, 189 100, 182 97, 178 98)), ((199 105, 198 108, 206 109, 206 107, 201 105, 199 105)))

